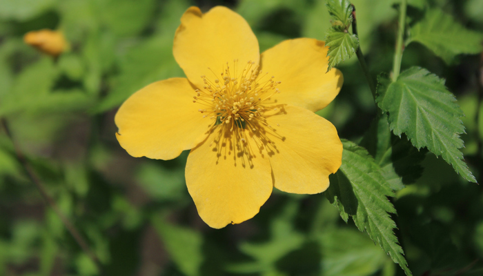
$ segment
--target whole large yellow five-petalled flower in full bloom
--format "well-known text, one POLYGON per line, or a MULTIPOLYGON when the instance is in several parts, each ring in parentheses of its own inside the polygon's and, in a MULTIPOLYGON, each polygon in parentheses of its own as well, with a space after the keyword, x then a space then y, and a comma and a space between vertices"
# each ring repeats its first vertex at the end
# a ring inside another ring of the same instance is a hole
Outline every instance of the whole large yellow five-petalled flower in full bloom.
POLYGON ((259 54, 235 12, 191 7, 173 53, 187 79, 151 83, 119 108, 119 144, 134 157, 191 150, 186 185, 206 224, 222 228, 259 212, 272 189, 315 194, 342 162, 337 130, 315 115, 338 94, 324 42, 293 39, 259 54))

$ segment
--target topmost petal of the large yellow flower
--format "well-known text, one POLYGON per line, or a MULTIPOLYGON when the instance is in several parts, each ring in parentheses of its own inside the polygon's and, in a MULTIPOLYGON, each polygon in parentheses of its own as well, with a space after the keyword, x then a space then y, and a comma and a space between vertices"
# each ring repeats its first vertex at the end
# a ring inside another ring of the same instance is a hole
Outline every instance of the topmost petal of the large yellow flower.
POLYGON ((258 64, 260 55, 257 37, 245 19, 221 6, 206 14, 197 7, 188 8, 181 17, 172 52, 197 88, 204 86, 201 75, 212 81, 221 79, 219 74, 224 72, 226 62, 238 75, 248 61, 258 64))

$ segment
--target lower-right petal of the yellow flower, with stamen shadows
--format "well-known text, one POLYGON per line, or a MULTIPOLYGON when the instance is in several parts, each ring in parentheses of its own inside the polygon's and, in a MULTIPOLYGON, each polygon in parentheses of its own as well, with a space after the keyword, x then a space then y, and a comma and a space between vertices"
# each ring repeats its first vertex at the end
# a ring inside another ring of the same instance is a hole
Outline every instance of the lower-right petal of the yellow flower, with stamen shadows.
POLYGON ((297 106, 285 106, 266 118, 275 129, 266 132, 275 141, 268 153, 275 188, 297 194, 326 190, 328 175, 342 164, 342 143, 333 124, 297 106))

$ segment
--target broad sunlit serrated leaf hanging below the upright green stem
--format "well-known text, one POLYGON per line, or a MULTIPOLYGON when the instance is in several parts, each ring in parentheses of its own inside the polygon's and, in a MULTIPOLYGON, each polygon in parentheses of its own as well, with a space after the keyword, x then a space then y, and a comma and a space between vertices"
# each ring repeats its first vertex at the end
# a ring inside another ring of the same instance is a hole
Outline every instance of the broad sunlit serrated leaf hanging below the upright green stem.
POLYGON ((387 75, 378 77, 377 104, 388 112, 389 126, 395 135, 406 133, 416 148, 428 148, 451 164, 464 179, 476 182, 463 161, 459 148, 464 126, 463 111, 446 90, 444 79, 428 70, 412 67, 392 82, 387 75))

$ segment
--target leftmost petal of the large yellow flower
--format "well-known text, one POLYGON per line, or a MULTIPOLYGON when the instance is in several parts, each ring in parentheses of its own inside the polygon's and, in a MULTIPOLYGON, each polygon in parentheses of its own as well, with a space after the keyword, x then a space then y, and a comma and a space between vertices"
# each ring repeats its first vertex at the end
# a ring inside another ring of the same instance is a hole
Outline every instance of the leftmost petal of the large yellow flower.
POLYGON ((119 144, 133 157, 173 159, 208 135, 209 121, 193 103, 184 78, 157 81, 135 92, 117 111, 119 144))

